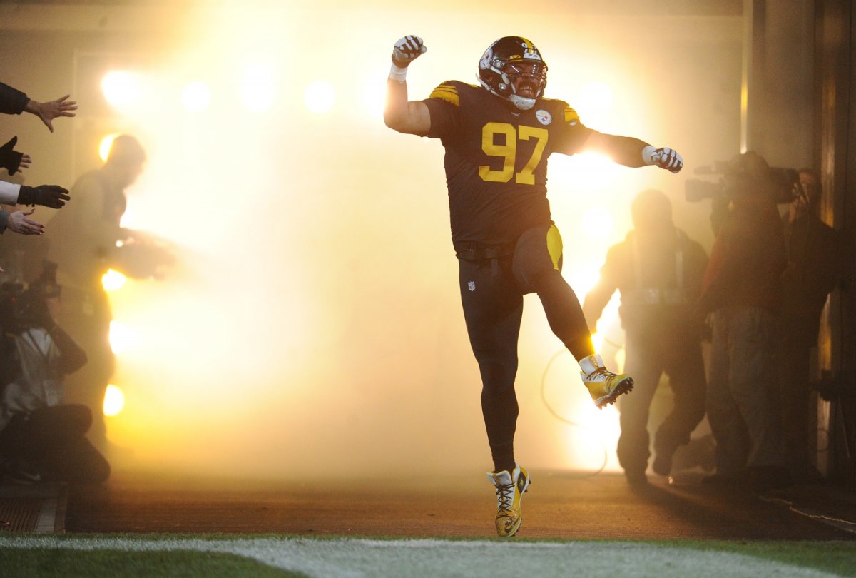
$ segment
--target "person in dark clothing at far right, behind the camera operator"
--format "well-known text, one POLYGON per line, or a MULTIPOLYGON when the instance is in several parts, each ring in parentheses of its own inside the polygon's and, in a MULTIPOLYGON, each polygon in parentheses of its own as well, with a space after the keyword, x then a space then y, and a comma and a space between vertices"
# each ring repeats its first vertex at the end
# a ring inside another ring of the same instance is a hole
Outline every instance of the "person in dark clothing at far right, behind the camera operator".
POLYGON ((820 181, 811 169, 800 170, 802 193, 782 216, 788 267, 779 339, 776 346, 779 414, 785 462, 795 480, 817 477, 809 462, 809 370, 817 343, 820 314, 839 278, 839 240, 820 219, 820 181))

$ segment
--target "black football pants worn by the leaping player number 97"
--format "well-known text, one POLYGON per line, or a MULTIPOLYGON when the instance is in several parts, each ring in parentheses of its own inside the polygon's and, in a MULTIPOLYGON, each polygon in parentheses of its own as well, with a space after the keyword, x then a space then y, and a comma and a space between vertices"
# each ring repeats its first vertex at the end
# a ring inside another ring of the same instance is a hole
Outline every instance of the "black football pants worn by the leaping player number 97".
POLYGON ((523 295, 536 293, 550 329, 580 360, 594 353, 574 289, 561 273, 562 237, 555 225, 526 230, 514 253, 497 259, 459 259, 461 303, 482 378, 482 414, 495 471, 514 469, 517 425, 517 339, 523 295))

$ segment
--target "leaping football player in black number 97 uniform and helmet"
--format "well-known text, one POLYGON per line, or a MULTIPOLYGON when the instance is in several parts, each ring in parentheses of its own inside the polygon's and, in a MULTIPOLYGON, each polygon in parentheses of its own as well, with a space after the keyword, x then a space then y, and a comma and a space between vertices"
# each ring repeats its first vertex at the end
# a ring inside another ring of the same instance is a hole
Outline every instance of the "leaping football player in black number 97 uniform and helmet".
POLYGON ((418 36, 395 43, 383 120, 405 134, 445 147, 452 242, 460 265, 461 301, 482 377, 481 403, 496 486, 496 533, 520 529, 520 499, 529 486, 514 459, 514 394, 523 295, 536 293, 550 329, 580 363, 598 408, 633 389, 594 351, 580 301, 562 278, 562 237, 550 219, 547 159, 597 151, 629 167, 654 164, 673 173, 681 155, 643 140, 587 128, 567 103, 544 98, 547 64, 531 41, 496 40, 479 60, 479 85, 447 80, 425 100, 407 100, 407 69, 426 51, 418 36))

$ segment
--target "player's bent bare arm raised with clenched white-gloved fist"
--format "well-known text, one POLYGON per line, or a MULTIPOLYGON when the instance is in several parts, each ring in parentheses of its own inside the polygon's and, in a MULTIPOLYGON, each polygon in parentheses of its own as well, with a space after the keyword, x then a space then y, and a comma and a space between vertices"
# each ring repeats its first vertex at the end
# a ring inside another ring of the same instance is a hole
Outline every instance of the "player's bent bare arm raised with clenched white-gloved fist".
POLYGON ((418 36, 405 36, 392 49, 383 122, 400 133, 425 136, 431 129, 431 114, 425 103, 407 100, 407 66, 427 50, 418 36))

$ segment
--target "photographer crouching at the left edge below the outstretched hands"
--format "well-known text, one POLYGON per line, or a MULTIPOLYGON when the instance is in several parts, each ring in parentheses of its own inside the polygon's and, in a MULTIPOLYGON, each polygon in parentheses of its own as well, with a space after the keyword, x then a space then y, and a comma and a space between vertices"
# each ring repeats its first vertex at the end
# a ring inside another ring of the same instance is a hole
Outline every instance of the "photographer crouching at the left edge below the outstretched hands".
POLYGON ((63 378, 86 353, 54 322, 59 295, 50 262, 28 289, 0 289, 0 473, 24 483, 99 483, 110 464, 86 439, 92 412, 63 403, 63 378))

